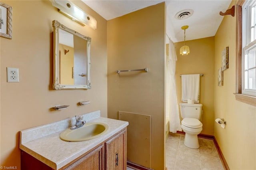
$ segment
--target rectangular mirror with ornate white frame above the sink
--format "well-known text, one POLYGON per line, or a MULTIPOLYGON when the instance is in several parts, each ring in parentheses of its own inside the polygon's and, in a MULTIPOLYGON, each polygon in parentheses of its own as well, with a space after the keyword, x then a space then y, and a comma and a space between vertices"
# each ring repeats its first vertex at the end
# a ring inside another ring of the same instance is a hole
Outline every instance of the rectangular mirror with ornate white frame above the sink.
POLYGON ((54 89, 91 89, 91 38, 52 21, 54 36, 54 89))

